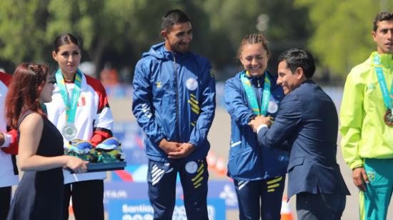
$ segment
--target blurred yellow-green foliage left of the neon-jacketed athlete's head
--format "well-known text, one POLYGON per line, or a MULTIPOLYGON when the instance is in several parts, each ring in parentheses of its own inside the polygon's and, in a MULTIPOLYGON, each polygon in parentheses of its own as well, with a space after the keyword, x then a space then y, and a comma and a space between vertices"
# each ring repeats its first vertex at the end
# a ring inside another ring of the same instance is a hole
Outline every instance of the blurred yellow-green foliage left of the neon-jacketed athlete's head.
MULTIPOLYGON (((347 76, 353 66, 368 58, 376 49, 372 40, 372 22, 382 1, 369 0, 295 0, 298 7, 309 9, 312 35, 309 49, 323 66, 338 76, 347 76)), ((392 1, 389 2, 393 9, 392 1)))

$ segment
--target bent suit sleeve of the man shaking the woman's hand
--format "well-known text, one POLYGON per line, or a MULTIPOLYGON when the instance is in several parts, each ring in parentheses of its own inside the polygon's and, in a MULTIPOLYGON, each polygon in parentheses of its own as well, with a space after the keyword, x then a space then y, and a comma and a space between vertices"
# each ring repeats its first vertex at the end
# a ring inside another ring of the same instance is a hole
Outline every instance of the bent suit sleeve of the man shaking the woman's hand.
POLYGON ((270 128, 259 130, 258 142, 269 148, 282 149, 284 141, 289 141, 294 136, 301 122, 302 107, 299 99, 289 94, 283 99, 274 124, 270 128))

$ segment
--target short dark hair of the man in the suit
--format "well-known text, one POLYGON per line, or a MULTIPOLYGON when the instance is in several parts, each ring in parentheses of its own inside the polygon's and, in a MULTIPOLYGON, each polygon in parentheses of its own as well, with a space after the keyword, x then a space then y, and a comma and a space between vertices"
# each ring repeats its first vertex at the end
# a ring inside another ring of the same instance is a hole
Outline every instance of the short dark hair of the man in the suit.
POLYGON ((310 79, 314 75, 314 58, 308 51, 297 48, 289 49, 279 55, 278 63, 281 61, 287 62, 287 68, 292 71, 292 74, 300 67, 303 69, 307 79, 310 79))

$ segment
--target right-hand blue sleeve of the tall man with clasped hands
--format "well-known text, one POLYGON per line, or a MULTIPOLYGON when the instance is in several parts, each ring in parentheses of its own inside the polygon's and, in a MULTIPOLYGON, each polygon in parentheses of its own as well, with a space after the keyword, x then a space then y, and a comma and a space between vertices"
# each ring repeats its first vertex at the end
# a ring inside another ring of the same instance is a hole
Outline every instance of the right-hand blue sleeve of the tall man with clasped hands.
POLYGON ((203 70, 201 114, 191 131, 189 143, 198 148, 207 141, 207 134, 214 119, 216 109, 216 81, 214 80, 212 65, 206 62, 203 70))

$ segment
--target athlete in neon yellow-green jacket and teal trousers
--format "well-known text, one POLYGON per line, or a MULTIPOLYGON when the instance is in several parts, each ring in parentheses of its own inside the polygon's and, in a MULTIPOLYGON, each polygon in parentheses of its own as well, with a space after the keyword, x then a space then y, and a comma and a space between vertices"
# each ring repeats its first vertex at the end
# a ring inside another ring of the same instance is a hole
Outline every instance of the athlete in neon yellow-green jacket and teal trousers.
POLYGON ((339 130, 344 160, 360 190, 360 219, 386 219, 393 190, 392 13, 377 14, 372 37, 377 51, 347 76, 339 130))

